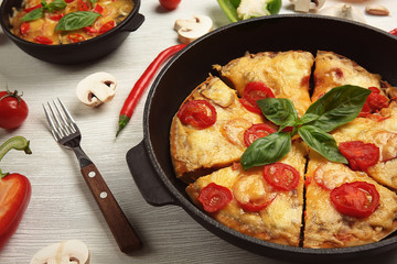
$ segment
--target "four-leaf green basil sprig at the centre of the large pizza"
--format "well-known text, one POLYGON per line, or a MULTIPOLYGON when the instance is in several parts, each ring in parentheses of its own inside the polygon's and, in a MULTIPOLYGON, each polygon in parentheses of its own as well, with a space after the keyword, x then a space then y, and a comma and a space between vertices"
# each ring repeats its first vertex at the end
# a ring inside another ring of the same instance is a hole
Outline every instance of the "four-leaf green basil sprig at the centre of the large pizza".
POLYGON ((301 119, 289 99, 266 98, 257 103, 264 116, 280 127, 279 132, 256 140, 243 154, 244 169, 278 162, 291 148, 291 139, 299 133, 315 152, 331 162, 347 164, 339 151, 332 130, 353 121, 369 96, 371 90, 358 86, 340 86, 331 89, 309 107, 301 119), (292 132, 280 132, 292 127, 292 132))

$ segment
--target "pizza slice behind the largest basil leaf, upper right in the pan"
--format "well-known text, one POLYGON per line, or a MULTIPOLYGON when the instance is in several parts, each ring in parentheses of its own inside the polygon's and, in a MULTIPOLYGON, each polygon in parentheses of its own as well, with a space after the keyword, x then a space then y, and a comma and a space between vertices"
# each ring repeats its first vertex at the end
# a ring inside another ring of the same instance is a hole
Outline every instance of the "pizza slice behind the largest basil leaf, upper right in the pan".
POLYGON ((314 102, 334 87, 343 85, 373 87, 375 92, 382 91, 382 77, 372 74, 350 58, 333 52, 318 51, 314 61, 314 89, 311 100, 314 102))

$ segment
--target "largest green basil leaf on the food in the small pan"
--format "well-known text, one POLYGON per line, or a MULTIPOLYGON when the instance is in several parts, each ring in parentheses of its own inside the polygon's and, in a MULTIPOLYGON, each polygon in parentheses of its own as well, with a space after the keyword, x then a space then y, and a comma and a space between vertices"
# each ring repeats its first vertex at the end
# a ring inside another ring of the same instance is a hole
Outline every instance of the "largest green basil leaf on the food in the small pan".
POLYGON ((74 31, 88 26, 100 14, 92 11, 76 11, 63 16, 55 26, 55 31, 74 31))

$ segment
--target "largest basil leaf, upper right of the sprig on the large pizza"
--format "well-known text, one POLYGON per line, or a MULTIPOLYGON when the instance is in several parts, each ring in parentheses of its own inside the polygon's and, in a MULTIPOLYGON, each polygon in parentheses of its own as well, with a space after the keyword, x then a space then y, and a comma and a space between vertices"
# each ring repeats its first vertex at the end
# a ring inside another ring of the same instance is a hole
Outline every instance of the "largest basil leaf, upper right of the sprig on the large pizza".
POLYGON ((369 94, 369 89, 358 86, 335 87, 309 107, 302 122, 330 132, 354 120, 369 94))

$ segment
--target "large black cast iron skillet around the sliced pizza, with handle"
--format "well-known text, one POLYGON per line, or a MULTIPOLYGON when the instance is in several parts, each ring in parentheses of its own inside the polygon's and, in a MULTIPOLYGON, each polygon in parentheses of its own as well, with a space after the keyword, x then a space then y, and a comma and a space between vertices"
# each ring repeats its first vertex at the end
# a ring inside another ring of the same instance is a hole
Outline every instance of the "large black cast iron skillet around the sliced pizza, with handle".
POLYGON ((245 52, 332 51, 397 85, 397 37, 372 26, 318 15, 273 15, 221 28, 189 45, 162 69, 149 92, 143 141, 127 153, 127 163, 146 200, 153 206, 181 206, 214 234, 245 250, 294 261, 339 260, 382 253, 397 245, 397 234, 367 245, 345 249, 302 249, 254 239, 213 220, 185 195, 170 158, 169 129, 189 94, 212 70, 245 52))

